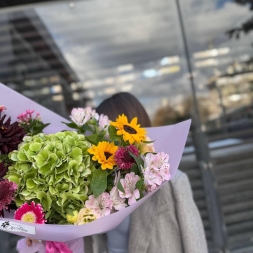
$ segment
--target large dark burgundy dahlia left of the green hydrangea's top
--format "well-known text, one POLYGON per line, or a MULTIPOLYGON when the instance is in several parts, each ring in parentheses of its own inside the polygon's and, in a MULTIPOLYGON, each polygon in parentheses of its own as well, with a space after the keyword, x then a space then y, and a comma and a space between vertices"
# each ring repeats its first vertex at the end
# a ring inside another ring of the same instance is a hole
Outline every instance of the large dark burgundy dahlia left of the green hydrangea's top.
POLYGON ((9 117, 5 122, 6 115, 0 118, 0 153, 9 154, 16 150, 25 136, 24 129, 15 121, 11 124, 9 117))

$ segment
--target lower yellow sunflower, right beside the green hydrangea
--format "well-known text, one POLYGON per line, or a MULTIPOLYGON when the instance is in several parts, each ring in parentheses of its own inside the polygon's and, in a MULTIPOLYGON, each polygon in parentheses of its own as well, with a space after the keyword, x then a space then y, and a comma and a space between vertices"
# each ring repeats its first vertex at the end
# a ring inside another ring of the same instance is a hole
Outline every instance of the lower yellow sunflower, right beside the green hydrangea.
POLYGON ((113 142, 101 141, 97 146, 93 145, 88 152, 93 155, 92 160, 98 161, 102 166, 102 170, 112 169, 116 165, 114 154, 118 147, 113 142))

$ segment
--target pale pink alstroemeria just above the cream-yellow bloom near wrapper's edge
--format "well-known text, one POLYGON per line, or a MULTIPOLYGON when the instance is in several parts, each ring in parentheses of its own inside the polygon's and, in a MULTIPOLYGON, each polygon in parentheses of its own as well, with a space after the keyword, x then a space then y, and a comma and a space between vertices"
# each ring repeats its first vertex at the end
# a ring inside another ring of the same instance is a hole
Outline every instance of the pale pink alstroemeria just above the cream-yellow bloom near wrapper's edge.
POLYGON ((85 201, 85 207, 90 208, 97 218, 107 216, 111 213, 113 202, 109 193, 103 192, 97 198, 94 195, 89 196, 89 200, 85 201))

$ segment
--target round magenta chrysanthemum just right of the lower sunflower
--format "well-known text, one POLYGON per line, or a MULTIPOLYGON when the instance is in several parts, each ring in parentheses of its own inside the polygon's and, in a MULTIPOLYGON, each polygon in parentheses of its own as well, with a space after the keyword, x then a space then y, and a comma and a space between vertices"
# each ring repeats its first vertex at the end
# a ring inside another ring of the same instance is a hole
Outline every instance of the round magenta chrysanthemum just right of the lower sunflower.
POLYGON ((138 156, 139 150, 135 146, 130 145, 127 147, 119 147, 115 153, 114 160, 123 170, 129 170, 133 163, 135 163, 134 158, 129 154, 129 152, 138 156))

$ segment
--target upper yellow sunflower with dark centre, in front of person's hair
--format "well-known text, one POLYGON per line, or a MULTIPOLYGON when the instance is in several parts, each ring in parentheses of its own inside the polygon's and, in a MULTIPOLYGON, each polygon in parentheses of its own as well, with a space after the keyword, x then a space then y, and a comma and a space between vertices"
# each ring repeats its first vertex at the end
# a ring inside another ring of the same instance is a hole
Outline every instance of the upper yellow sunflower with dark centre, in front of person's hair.
POLYGON ((117 135, 122 135, 125 142, 129 141, 132 145, 134 142, 141 142, 146 139, 146 130, 137 124, 137 118, 133 118, 129 123, 127 117, 122 114, 116 122, 111 122, 111 125, 116 127, 117 135))

